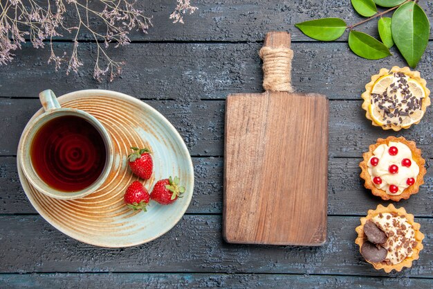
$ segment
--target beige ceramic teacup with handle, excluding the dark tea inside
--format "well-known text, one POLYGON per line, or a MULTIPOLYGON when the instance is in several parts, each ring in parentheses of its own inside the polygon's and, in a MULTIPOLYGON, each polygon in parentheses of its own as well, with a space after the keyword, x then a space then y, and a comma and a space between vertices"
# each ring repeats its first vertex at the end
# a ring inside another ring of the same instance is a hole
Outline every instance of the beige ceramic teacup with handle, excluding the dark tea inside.
POLYGON ((26 125, 26 128, 24 128, 24 132, 21 137, 21 141, 18 145, 19 159, 17 161, 19 161, 21 169, 23 170, 24 175, 26 175, 28 182, 30 182, 30 184, 34 186, 37 191, 44 193, 45 195, 48 195, 52 198, 62 200, 73 200, 77 198, 82 198, 98 190, 109 176, 111 165, 113 164, 113 145, 111 143, 109 133, 100 123, 100 121, 95 119, 95 117, 93 117, 91 114, 88 114, 87 112, 84 112, 82 110, 60 107, 55 94, 50 89, 42 91, 39 94, 39 99, 41 100, 45 112, 26 125), (106 157, 102 173, 100 173, 99 177, 92 184, 86 186, 86 188, 81 189, 80 191, 60 191, 59 189, 55 189, 52 186, 49 186, 48 184, 46 184, 46 182, 44 182, 42 177, 38 175, 37 170, 33 165, 31 155, 31 147, 33 145, 33 140, 37 136, 39 130, 44 125, 46 125, 46 123, 60 116, 77 116, 80 119, 84 119, 85 121, 93 125, 93 127, 99 132, 104 142, 106 157))

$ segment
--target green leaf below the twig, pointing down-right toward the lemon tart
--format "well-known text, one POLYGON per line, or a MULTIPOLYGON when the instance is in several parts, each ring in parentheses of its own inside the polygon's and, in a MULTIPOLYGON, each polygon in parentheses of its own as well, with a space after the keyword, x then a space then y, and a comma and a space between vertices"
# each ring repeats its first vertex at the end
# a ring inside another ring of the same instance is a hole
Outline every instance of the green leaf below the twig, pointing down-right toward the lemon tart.
POLYGON ((385 44, 368 34, 351 30, 349 33, 349 47, 356 55, 371 60, 386 58, 391 55, 385 44))

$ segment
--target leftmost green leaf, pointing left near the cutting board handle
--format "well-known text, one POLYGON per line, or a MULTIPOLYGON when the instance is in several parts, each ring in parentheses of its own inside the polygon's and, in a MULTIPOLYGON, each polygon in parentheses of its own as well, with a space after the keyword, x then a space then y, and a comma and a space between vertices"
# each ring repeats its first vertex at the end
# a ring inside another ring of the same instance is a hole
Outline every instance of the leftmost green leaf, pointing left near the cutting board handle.
POLYGON ((302 33, 315 40, 332 41, 343 35, 346 22, 340 18, 322 18, 295 24, 302 33))

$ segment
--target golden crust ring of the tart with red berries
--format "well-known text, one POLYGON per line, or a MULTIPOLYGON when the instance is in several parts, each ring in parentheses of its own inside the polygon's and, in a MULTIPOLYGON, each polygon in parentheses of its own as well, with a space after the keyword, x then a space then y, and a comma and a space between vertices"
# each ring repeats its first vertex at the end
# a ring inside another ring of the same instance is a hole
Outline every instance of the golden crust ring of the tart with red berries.
POLYGON ((373 195, 377 195, 378 197, 382 198, 382 200, 393 200, 394 202, 398 202, 401 199, 407 200, 410 195, 418 193, 419 186, 424 184, 424 175, 427 173, 427 170, 425 169, 425 159, 421 157, 421 150, 416 148, 416 143, 414 141, 407 141, 407 139, 404 137, 387 137, 387 139, 378 139, 375 144, 369 146, 369 151, 364 152, 362 157, 364 159, 360 162, 359 166, 361 168, 360 177, 365 180, 364 186, 366 189, 370 189, 373 195), (371 180, 371 175, 369 174, 367 166, 367 162, 369 161, 370 157, 373 156, 374 150, 376 150, 376 148, 381 144, 387 145, 391 141, 404 143, 407 147, 409 147, 410 151, 412 152, 412 159, 419 166, 419 173, 416 177, 415 184, 408 186, 403 193, 400 193, 400 195, 388 195, 386 191, 376 188, 373 181, 371 180))

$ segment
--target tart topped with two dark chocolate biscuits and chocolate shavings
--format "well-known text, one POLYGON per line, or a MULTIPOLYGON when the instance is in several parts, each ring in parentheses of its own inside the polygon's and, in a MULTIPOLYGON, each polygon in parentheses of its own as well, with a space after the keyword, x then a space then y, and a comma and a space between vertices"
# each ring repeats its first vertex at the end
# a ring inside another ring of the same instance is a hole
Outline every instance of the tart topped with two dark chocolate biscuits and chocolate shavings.
POLYGON ((412 267, 412 261, 418 260, 423 249, 424 234, 420 225, 414 222, 414 216, 404 208, 396 209, 378 205, 376 210, 369 210, 361 225, 356 227, 358 238, 355 243, 365 261, 376 270, 383 269, 400 272, 404 267, 412 267))

